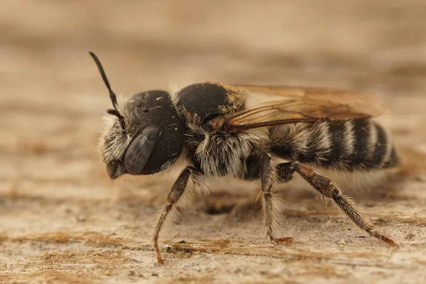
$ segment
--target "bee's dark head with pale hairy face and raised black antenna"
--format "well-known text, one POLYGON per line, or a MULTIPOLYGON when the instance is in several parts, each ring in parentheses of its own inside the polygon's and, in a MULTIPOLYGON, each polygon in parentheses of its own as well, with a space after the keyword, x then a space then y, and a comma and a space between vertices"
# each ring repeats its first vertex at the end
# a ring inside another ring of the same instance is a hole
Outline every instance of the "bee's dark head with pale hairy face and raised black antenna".
POLYGON ((164 91, 148 91, 133 95, 123 107, 118 106, 101 63, 97 63, 109 90, 116 116, 101 141, 101 154, 111 179, 130 175, 151 175, 165 170, 182 153, 183 124, 164 91))

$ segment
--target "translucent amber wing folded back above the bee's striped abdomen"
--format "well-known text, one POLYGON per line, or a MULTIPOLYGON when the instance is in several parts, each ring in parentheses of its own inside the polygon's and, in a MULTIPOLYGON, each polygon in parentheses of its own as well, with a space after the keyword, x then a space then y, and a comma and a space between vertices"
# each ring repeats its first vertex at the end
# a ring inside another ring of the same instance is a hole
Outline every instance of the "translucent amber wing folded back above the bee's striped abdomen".
POLYGON ((383 114, 378 100, 317 87, 234 85, 246 93, 246 109, 226 114, 230 131, 265 126, 370 118, 383 114))

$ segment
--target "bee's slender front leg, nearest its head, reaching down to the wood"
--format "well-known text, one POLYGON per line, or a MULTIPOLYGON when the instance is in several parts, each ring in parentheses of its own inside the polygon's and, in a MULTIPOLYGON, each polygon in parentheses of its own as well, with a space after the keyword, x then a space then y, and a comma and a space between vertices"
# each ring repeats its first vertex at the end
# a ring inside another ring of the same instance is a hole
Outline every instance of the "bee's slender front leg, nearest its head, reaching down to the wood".
POLYGON ((153 243, 155 253, 157 253, 157 261, 163 263, 164 259, 161 257, 160 249, 158 249, 158 234, 160 234, 161 227, 167 217, 168 213, 173 207, 173 204, 178 202, 179 198, 182 196, 185 188, 187 187, 188 180, 190 178, 202 178, 203 174, 194 167, 187 167, 185 170, 180 173, 178 180, 175 181, 172 189, 169 192, 167 197, 167 203, 164 206, 163 212, 161 212, 160 217, 158 218, 157 224, 155 225, 153 243))

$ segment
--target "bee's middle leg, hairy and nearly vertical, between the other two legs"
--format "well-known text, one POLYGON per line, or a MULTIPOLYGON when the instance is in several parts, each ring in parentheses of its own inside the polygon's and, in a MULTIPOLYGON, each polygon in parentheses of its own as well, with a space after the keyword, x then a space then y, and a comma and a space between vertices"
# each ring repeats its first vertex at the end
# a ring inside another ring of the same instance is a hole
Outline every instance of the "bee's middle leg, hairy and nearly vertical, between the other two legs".
POLYGON ((287 243, 293 241, 293 238, 275 238, 272 234, 273 227, 277 224, 281 214, 283 214, 283 202, 280 197, 272 190, 273 183, 276 180, 275 167, 271 163, 271 154, 263 153, 260 157, 260 170, 261 170, 261 188, 263 193, 262 208, 264 214, 264 221, 267 230, 267 236, 271 241, 287 243))

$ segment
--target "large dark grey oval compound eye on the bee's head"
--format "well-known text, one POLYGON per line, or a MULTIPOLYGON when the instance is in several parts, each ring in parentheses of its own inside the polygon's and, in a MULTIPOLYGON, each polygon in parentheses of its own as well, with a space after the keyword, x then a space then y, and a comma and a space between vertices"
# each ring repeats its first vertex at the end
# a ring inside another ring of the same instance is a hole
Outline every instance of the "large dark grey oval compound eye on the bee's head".
POLYGON ((142 175, 160 134, 160 126, 151 124, 133 138, 124 155, 124 168, 126 168, 127 173, 142 175))

